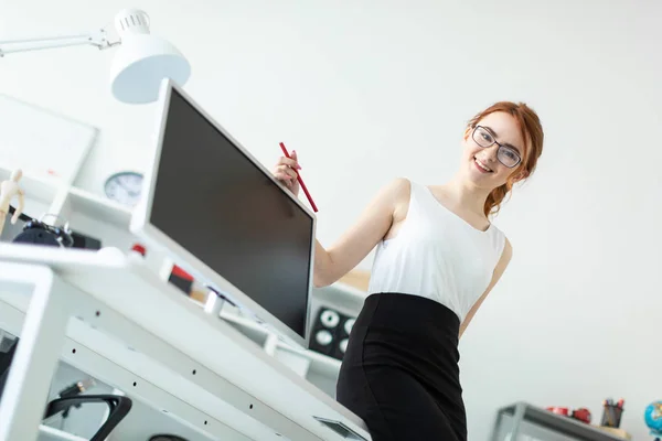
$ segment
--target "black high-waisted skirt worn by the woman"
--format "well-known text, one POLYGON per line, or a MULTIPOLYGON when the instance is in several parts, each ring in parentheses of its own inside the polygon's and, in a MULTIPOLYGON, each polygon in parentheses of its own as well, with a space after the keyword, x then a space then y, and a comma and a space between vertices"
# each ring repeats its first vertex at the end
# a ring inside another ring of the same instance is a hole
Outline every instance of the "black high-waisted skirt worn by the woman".
POLYGON ((371 294, 352 327, 338 401, 373 441, 466 441, 458 316, 439 302, 371 294))

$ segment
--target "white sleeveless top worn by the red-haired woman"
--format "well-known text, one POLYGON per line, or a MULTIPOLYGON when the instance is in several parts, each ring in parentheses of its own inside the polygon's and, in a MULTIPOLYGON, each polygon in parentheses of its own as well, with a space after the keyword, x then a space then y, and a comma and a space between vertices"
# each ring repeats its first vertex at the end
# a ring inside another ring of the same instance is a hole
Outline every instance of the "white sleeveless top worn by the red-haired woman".
POLYGON ((461 323, 490 284, 505 236, 494 225, 472 227, 427 186, 410 184, 407 217, 396 237, 377 245, 367 292, 426 297, 461 323))

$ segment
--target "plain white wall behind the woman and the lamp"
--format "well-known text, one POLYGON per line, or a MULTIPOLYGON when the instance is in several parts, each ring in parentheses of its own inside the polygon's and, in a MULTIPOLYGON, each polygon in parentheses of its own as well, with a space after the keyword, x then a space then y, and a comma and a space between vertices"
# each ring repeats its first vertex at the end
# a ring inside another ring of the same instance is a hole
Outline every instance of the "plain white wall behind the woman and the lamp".
MULTIPOLYGON (((106 25, 127 4, 1 3, 1 40, 106 25)), ((609 396, 626 398, 623 427, 645 438, 644 406, 662 398, 662 3, 135 4, 189 56, 188 92, 260 160, 271 164, 281 140, 298 150, 324 244, 392 178, 445 181, 474 111, 530 103, 546 150, 498 219, 514 259, 461 344, 470 439, 488 439, 494 410, 514 400, 599 419, 609 396)), ((111 172, 145 166, 153 126, 153 106, 110 98, 111 55, 0 60, 1 93, 102 129, 78 180, 97 193, 111 172)))

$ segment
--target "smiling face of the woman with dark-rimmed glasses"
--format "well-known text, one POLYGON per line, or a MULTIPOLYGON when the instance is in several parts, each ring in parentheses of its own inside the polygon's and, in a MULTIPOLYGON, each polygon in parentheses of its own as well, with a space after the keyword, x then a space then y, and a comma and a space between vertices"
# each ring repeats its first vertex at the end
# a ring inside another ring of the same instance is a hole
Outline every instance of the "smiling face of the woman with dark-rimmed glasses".
POLYGON ((521 169, 526 144, 517 120, 494 111, 465 131, 462 146, 461 174, 474 185, 492 190, 521 169))

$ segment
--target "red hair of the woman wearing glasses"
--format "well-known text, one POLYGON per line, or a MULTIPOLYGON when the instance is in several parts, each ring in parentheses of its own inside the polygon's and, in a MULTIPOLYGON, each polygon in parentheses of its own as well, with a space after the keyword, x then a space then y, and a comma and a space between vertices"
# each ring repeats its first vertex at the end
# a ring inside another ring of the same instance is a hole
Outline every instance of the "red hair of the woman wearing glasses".
POLYGON ((499 213, 501 203, 512 191, 513 185, 528 178, 535 170, 537 160, 543 153, 543 141, 545 135, 537 114, 524 103, 499 101, 477 114, 468 122, 468 128, 473 129, 478 122, 494 111, 504 111, 515 118, 520 126, 522 139, 525 142, 522 162, 508 178, 505 184, 492 190, 485 200, 483 212, 485 216, 499 213))

